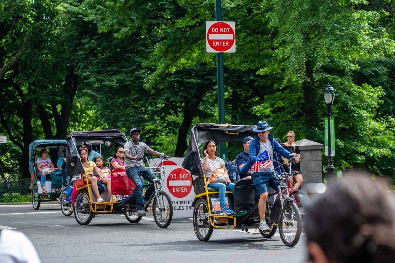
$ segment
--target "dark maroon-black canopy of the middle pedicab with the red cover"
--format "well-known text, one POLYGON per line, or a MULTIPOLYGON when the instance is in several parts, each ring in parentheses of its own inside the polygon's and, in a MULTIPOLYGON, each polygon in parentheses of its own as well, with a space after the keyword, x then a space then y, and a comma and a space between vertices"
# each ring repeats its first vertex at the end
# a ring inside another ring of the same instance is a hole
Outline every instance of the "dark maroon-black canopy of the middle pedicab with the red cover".
POLYGON ((66 175, 79 175, 85 173, 78 154, 81 144, 105 144, 115 147, 123 146, 128 142, 125 134, 118 130, 99 131, 73 131, 67 137, 66 175))

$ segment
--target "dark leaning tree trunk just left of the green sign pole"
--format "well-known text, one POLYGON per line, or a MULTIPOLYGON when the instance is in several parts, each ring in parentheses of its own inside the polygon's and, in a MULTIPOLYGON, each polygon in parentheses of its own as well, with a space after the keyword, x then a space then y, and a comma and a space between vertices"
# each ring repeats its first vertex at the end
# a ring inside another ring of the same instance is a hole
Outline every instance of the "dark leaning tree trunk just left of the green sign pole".
POLYGON ((175 147, 174 157, 182 157, 188 145, 186 144, 186 136, 189 132, 189 127, 191 127, 192 120, 198 113, 198 106, 200 100, 194 100, 190 104, 184 106, 184 119, 178 129, 177 146, 175 147))

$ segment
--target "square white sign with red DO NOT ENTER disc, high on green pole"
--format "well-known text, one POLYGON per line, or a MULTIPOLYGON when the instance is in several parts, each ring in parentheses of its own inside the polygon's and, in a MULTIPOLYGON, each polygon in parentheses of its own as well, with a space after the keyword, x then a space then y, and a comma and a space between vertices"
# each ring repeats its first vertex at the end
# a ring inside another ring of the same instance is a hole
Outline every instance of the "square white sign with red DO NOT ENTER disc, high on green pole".
POLYGON ((207 52, 236 52, 235 22, 206 22, 207 52))

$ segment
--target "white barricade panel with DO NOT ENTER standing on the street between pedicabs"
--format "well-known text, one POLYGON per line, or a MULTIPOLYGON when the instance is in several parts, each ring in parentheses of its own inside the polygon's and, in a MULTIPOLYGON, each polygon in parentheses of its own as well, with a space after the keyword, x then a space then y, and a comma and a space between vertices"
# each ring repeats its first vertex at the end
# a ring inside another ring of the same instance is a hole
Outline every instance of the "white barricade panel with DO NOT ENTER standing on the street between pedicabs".
POLYGON ((164 166, 162 190, 173 202, 173 218, 191 218, 195 192, 191 174, 181 166, 164 166))

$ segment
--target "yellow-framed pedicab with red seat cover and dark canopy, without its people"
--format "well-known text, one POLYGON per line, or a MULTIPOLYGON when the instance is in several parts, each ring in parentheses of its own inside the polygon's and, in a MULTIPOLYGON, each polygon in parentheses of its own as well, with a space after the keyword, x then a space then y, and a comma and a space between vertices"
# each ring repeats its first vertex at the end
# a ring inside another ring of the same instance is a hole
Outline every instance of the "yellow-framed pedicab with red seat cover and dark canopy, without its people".
MULTIPOLYGON (((143 218, 143 215, 137 215, 135 185, 132 179, 126 175, 124 168, 112 170, 111 193, 110 189, 107 189, 107 186, 103 184, 104 192, 100 194, 100 197, 104 202, 97 202, 92 186, 88 182, 88 174, 85 172, 78 154, 79 145, 81 144, 106 145, 115 149, 118 146, 123 146, 126 142, 128 142, 128 139, 125 134, 115 129, 86 132, 73 131, 67 137, 66 175, 71 176, 71 180, 74 181, 78 191, 73 206, 75 220, 78 224, 89 224, 97 214, 123 213, 131 223, 138 223, 143 218), (113 195, 115 194, 122 194, 127 197, 122 201, 114 201, 113 195)), ((143 158, 148 160, 149 157, 144 156, 143 158)), ((160 228, 167 228, 173 218, 173 205, 169 195, 162 191, 160 186, 160 179, 164 174, 163 159, 164 156, 161 157, 161 162, 158 166, 148 167, 156 175, 156 178, 154 182, 144 185, 143 188, 154 186, 154 192, 145 205, 145 211, 148 211, 152 203, 152 214, 156 224, 160 228)))

